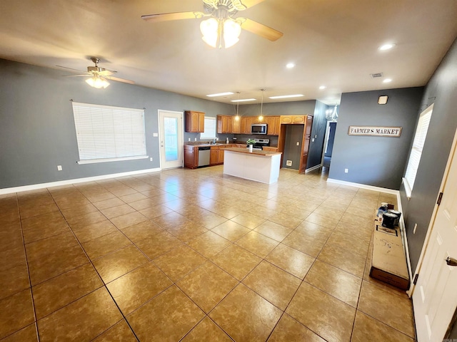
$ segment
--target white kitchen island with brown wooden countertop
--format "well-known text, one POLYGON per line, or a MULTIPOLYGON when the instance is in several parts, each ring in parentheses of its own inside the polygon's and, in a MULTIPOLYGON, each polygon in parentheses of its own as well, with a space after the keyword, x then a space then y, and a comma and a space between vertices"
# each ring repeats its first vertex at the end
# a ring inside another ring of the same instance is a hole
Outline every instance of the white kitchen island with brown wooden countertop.
POLYGON ((229 147, 224 150, 224 174, 266 184, 278 182, 281 152, 229 147))

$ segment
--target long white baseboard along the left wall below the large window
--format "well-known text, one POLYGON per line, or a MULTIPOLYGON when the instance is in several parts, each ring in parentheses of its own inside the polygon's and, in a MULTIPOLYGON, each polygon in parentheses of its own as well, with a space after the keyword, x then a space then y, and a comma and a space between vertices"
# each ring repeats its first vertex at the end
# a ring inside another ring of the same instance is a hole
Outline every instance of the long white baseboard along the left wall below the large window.
POLYGON ((6 187, 4 189, 0 189, 0 195, 12 194, 14 192, 23 192, 23 191, 29 191, 29 190, 44 189, 45 187, 59 187, 61 185, 93 182, 94 180, 109 180, 110 178, 125 177, 125 176, 131 176, 131 175, 140 175, 141 173, 151 173, 151 172, 159 172, 159 171, 160 171, 160 168, 156 167, 155 169, 136 170, 136 171, 129 171, 129 172, 113 173, 111 175, 76 178, 74 180, 59 180, 57 182, 24 185, 21 187, 6 187))

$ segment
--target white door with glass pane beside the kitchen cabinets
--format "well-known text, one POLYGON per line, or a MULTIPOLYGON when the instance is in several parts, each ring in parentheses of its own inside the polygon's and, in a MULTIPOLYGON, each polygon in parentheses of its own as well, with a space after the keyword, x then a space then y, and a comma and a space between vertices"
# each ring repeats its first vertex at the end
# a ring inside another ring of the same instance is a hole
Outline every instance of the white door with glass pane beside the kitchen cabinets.
POLYGON ((183 113, 159 110, 161 170, 183 166, 183 113))

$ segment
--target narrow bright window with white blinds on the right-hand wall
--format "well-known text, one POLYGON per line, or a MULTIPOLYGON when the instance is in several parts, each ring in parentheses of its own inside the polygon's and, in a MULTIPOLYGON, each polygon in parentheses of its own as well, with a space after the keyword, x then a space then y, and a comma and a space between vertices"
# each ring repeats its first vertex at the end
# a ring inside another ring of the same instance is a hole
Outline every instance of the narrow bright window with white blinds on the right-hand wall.
POLYGON ((431 120, 431 113, 433 112, 433 105, 428 107, 421 113, 414 135, 413 147, 409 155, 408 166, 406 167, 405 177, 403 177, 403 184, 405 185, 406 196, 411 197, 414 182, 416 181, 417 169, 419 162, 421 162, 421 155, 423 144, 426 142, 428 125, 431 120))

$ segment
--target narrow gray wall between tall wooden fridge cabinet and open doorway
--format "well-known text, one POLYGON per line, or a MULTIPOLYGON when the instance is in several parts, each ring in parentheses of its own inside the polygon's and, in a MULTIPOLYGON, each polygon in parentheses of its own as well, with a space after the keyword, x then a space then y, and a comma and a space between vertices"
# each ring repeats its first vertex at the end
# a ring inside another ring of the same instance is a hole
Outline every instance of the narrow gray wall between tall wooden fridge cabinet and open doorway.
POLYGON ((326 137, 326 110, 328 105, 316 100, 314 108, 313 126, 311 128, 311 139, 309 142, 308 161, 306 168, 309 169, 316 165, 321 165, 324 139, 326 137), (314 140, 314 141, 313 141, 314 140))

